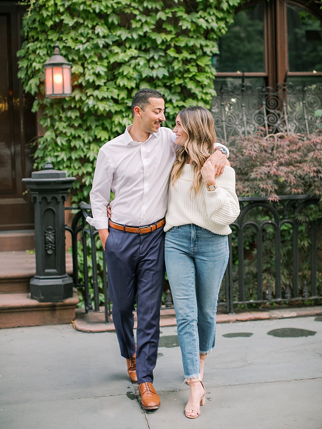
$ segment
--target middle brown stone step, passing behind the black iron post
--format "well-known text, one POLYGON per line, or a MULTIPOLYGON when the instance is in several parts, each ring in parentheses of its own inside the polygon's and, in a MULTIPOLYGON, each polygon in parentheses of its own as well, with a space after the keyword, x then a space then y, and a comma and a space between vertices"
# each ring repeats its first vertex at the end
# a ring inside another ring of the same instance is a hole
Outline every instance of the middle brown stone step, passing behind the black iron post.
MULTIPOLYGON (((73 273, 72 255, 66 253, 66 271, 73 273)), ((36 272, 35 254, 26 251, 0 252, 0 294, 28 293, 30 278, 36 272)))

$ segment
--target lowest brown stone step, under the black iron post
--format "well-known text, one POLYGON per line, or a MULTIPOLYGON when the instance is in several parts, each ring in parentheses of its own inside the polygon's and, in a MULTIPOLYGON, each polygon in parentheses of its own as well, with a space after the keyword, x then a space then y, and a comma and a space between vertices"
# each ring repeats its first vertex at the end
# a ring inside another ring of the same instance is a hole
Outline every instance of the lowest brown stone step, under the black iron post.
POLYGON ((79 302, 74 288, 72 298, 64 302, 38 302, 26 293, 0 295, 0 328, 22 326, 61 325, 75 318, 79 302))

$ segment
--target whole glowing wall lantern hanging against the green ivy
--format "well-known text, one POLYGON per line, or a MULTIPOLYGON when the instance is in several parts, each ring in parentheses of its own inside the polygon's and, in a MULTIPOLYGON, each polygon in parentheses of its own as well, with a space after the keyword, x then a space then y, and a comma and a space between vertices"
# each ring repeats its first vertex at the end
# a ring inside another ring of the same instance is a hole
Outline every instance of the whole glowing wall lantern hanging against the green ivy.
POLYGON ((72 74, 69 63, 59 53, 59 46, 55 45, 54 55, 44 63, 45 69, 45 97, 61 98, 72 95, 72 74))

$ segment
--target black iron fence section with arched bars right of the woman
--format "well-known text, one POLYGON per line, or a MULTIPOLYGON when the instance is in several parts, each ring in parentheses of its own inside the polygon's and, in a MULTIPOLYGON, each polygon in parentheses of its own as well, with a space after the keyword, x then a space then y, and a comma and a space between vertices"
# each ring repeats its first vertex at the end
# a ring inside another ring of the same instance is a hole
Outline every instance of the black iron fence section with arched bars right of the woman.
POLYGON ((225 273, 226 309, 243 304, 306 301, 322 297, 322 228, 318 199, 240 197, 231 225, 225 273), (318 255, 319 248, 319 255, 318 255))

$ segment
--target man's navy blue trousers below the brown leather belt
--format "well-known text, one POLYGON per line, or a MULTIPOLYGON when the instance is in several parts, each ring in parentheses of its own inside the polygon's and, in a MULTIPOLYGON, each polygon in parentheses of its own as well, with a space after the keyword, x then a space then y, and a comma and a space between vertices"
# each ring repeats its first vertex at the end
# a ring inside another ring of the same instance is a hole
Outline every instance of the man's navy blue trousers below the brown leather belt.
POLYGON ((121 355, 135 353, 134 304, 137 296, 137 381, 153 381, 160 336, 164 284, 163 227, 148 234, 109 228, 105 244, 109 299, 121 355))

